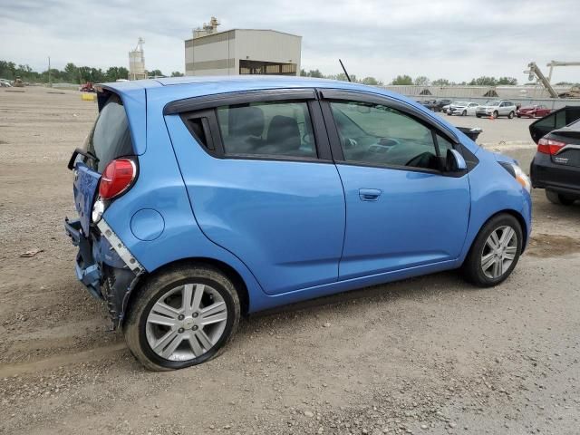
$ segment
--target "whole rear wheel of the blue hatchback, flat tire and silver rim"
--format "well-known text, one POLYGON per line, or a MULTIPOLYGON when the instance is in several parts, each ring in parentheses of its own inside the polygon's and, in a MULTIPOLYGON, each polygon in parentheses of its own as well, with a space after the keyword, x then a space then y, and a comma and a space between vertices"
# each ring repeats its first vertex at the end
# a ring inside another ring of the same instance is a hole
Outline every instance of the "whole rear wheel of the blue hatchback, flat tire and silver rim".
POLYGON ((146 368, 167 371, 217 356, 239 318, 237 291, 226 275, 211 266, 174 266, 140 288, 123 332, 146 368))

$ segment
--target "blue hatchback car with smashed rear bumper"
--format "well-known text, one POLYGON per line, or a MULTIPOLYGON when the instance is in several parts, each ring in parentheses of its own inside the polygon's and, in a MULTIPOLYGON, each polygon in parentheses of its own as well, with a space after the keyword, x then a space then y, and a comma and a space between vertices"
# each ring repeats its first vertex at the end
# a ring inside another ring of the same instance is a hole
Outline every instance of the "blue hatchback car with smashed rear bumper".
POLYGON ((275 76, 97 91, 65 228, 151 370, 207 361, 276 305, 455 268, 497 285, 526 247, 517 162, 401 95, 275 76))

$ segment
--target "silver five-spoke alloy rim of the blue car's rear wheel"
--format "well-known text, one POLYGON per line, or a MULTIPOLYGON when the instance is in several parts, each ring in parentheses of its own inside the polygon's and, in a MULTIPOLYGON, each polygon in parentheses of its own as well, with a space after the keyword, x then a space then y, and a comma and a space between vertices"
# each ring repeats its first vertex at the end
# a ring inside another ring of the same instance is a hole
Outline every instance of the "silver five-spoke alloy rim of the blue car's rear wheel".
POLYGON ((223 335, 227 304, 210 285, 179 285, 162 295, 147 316, 151 350, 169 361, 188 361, 207 353, 223 335))

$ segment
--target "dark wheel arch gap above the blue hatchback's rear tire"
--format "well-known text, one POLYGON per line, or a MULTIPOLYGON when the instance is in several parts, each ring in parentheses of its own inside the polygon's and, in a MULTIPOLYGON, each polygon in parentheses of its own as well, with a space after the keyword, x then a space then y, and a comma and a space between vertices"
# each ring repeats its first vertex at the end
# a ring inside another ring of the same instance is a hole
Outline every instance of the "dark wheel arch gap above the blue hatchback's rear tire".
POLYGON ((179 266, 207 266, 213 268, 226 275, 227 278, 232 282, 237 291, 237 297, 240 302, 240 311, 242 315, 247 314, 249 309, 249 293, 247 291, 247 285, 241 275, 237 270, 227 265, 223 261, 217 260, 215 258, 208 257, 190 257, 182 258, 166 265, 160 266, 157 269, 151 271, 147 275, 140 277, 137 285, 131 290, 131 294, 128 296, 127 303, 123 307, 123 322, 127 318, 127 314, 131 310, 131 305, 135 302, 136 295, 139 295, 139 290, 142 285, 144 285, 148 280, 150 280, 155 275, 160 275, 169 269, 179 267, 179 266))

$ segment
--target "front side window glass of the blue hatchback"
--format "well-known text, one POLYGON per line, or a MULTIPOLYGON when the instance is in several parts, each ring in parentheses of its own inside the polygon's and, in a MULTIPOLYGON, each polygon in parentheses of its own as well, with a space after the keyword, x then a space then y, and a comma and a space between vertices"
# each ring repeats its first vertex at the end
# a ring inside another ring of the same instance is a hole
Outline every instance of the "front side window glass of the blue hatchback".
POLYGON ((344 160, 440 169, 429 127, 401 111, 366 102, 331 102, 344 160))

